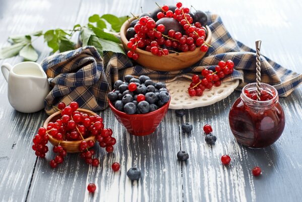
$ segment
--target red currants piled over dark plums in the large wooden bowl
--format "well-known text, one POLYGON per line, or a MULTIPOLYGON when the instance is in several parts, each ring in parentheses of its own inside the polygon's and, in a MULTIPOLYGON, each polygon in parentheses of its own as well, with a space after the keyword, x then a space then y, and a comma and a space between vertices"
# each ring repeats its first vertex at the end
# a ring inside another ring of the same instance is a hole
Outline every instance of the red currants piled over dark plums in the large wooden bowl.
POLYGON ((183 26, 185 35, 173 29, 168 30, 167 35, 165 35, 163 34, 165 31, 163 24, 158 24, 156 27, 154 19, 149 16, 143 16, 138 18, 138 22, 134 26, 136 34, 133 38, 130 38, 127 44, 130 48, 127 53, 128 57, 134 60, 139 58, 139 55, 135 53, 137 47, 145 49, 145 51, 151 52, 156 56, 166 56, 169 52, 177 53, 169 50, 168 48, 170 47, 179 52, 188 52, 194 51, 200 46, 202 52, 207 52, 205 28, 199 22, 192 24, 193 18, 189 14, 190 9, 182 6, 182 3, 178 2, 176 4, 177 8, 173 13, 167 5, 164 5, 161 7, 162 11, 157 14, 157 18, 174 18, 183 26))

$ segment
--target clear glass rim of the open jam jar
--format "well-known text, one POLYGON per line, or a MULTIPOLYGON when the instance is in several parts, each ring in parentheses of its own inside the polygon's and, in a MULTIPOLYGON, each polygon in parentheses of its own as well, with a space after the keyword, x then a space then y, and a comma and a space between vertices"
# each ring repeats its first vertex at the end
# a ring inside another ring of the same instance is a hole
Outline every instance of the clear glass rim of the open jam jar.
POLYGON ((252 98, 248 97, 245 93, 245 90, 248 89, 248 88, 251 88, 251 87, 255 87, 255 86, 257 86, 257 83, 249 83, 246 86, 244 86, 241 90, 241 99, 245 100, 247 103, 250 103, 250 104, 258 103, 261 106, 267 106, 267 105, 271 105, 273 103, 278 102, 278 91, 277 91, 277 89, 274 86, 269 85, 267 83, 260 83, 260 87, 262 89, 269 88, 270 90, 272 90, 274 92, 274 96, 273 96, 272 99, 261 101, 261 100, 255 100, 255 99, 252 99, 252 98))

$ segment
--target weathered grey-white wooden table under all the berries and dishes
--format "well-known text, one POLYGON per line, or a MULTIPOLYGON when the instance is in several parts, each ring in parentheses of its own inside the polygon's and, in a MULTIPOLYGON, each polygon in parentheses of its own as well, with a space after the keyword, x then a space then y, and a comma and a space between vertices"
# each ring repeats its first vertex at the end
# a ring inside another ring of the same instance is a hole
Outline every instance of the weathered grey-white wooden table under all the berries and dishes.
MULTIPOLYGON (((174 4, 174 1, 158 1, 174 4)), ((302 3, 299 1, 183 1, 201 10, 222 16, 230 33, 254 47, 262 39, 262 54, 281 65, 302 72, 302 3)), ((12 34, 24 34, 50 28, 72 28, 87 23, 92 14, 117 16, 155 8, 153 1, 50 1, 0 0, 0 47, 12 34)), ((39 60, 50 49, 42 39, 34 43, 39 60)), ((0 61, 17 64, 20 57, 0 61)), ((99 167, 87 166, 79 155, 68 155, 63 165, 51 169, 46 160, 37 159, 31 149, 32 138, 47 115, 41 111, 23 114, 8 102, 7 83, 0 76, 0 200, 1 201, 301 201, 302 197, 302 87, 280 103, 286 113, 281 138, 264 149, 238 145, 228 126, 228 112, 239 96, 233 92, 220 102, 187 110, 182 118, 169 110, 156 132, 145 137, 130 135, 118 124, 112 112, 100 112, 106 127, 117 140, 114 154, 97 147, 99 167), (192 134, 180 132, 184 122, 193 123, 192 134), (202 126, 211 123, 218 140, 212 148, 204 141, 202 126), (190 159, 179 163, 176 153, 187 150, 190 159), (229 167, 220 157, 232 158, 229 167), (119 172, 110 166, 119 162, 119 172), (143 178, 131 182, 127 170, 137 166, 143 178), (254 177, 251 169, 260 166, 263 173, 254 177), (97 191, 89 194, 87 184, 97 191)), ((48 152, 46 159, 54 154, 48 152)))

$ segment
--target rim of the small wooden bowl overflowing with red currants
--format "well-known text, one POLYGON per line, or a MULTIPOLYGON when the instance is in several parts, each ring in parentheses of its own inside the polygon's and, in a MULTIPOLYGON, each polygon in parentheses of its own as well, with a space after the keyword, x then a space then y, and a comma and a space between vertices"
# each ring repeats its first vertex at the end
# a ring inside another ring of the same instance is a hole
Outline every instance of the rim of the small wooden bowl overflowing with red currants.
MULTIPOLYGON (((77 109, 77 111, 79 112, 85 112, 85 113, 89 113, 89 114, 92 114, 92 115, 97 115, 95 112, 92 112, 90 110, 86 110, 86 109, 82 109, 82 108, 79 108, 77 109)), ((58 112, 55 112, 53 113, 52 115, 50 115, 45 121, 44 121, 44 124, 43 124, 43 127, 44 128, 47 128, 47 124, 49 123, 49 121, 51 119, 53 119, 55 116, 61 114, 61 111, 58 111, 58 112)), ((49 141, 51 143, 58 143, 60 140, 58 139, 55 139, 54 137, 52 137, 52 135, 48 134, 48 137, 49 137, 49 141)), ((84 140, 85 141, 88 141, 88 140, 94 140, 95 139, 95 136, 89 136, 87 138, 85 138, 84 140)), ((75 141, 68 141, 68 140, 61 140, 61 143, 62 144, 65 144, 65 145, 71 145, 71 144, 80 144, 83 140, 75 140, 75 141)))

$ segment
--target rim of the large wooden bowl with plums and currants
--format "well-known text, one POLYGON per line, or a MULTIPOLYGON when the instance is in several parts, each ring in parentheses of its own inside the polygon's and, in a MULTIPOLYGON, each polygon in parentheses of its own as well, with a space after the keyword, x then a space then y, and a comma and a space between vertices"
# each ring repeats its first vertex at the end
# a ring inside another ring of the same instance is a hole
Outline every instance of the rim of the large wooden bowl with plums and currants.
MULTIPOLYGON (((130 23, 133 20, 135 20, 135 19, 136 19, 135 17, 132 17, 129 20, 126 20, 124 22, 124 24, 122 25, 122 27, 120 27, 119 34, 120 34, 120 39, 122 40, 122 43, 127 44, 129 42, 128 39, 126 38, 126 31, 129 28, 130 23)), ((208 25, 206 25, 205 27, 206 27, 206 29, 208 31, 208 34, 206 35, 206 38, 205 38, 205 42, 208 43, 208 44, 210 44, 211 43, 211 39, 212 39, 212 31, 211 31, 211 29, 209 28, 208 25)), ((198 47, 200 47, 200 46, 198 46, 198 47)), ((154 56, 151 52, 144 51, 143 49, 140 49, 140 48, 136 48, 136 52, 144 54, 144 55, 154 56)), ((188 55, 191 55, 191 54, 195 55, 196 52, 199 53, 200 49, 196 48, 194 51, 180 52, 180 53, 178 53, 178 55, 176 53, 175 54, 170 54, 169 53, 169 55, 162 56, 162 57, 181 57, 181 56, 188 56, 188 55)))

